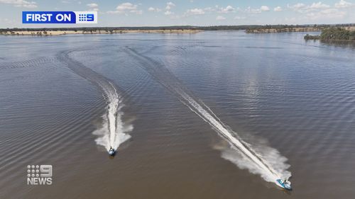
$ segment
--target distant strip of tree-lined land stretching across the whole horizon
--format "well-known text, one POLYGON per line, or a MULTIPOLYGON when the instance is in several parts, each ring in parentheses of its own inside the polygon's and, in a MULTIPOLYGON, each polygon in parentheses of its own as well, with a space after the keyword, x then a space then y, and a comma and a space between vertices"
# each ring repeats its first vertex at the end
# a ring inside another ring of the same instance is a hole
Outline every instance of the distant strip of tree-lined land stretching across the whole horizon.
POLYGON ((114 33, 199 33, 204 30, 245 30, 246 33, 316 32, 326 28, 355 30, 355 23, 320 25, 214 25, 214 26, 146 26, 146 27, 77 27, 77 28, 2 28, 0 35, 66 35, 114 33))

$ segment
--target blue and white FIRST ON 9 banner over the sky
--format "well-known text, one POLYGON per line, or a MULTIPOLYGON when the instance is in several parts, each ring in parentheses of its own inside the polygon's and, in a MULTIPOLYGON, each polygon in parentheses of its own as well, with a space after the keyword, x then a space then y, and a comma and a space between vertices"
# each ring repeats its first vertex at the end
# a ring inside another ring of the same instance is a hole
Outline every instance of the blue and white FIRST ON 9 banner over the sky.
POLYGON ((22 23, 97 23, 97 11, 23 11, 22 23))

